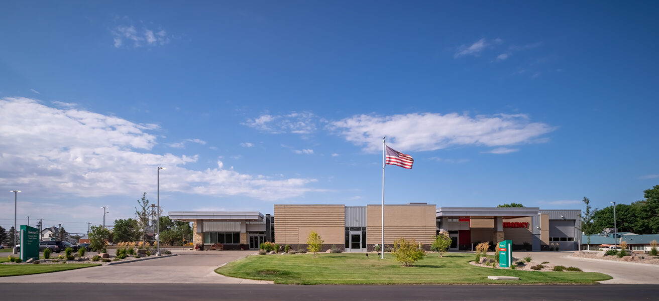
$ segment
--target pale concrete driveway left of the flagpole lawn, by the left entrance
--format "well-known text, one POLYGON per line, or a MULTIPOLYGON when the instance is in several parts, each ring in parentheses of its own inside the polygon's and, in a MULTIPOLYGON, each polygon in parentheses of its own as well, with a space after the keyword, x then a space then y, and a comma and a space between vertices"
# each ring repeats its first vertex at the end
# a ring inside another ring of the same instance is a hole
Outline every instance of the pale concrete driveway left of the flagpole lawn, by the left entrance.
POLYGON ((272 283, 215 273, 224 263, 254 251, 177 251, 179 256, 88 267, 57 273, 0 277, 0 283, 272 283))

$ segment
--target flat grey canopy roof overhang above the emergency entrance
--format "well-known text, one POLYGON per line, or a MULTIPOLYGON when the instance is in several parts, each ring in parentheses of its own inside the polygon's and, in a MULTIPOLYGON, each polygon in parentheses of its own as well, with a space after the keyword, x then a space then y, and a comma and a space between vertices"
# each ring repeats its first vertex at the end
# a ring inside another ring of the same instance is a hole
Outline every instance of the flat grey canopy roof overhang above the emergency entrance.
POLYGON ((439 207, 435 211, 436 217, 525 217, 538 215, 539 207, 439 207))

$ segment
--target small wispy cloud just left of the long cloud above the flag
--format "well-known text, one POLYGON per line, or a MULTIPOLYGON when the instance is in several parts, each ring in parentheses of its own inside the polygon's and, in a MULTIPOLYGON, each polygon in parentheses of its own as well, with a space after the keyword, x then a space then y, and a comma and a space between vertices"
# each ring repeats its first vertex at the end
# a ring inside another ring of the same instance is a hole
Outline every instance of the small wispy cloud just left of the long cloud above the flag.
POLYGON ((247 119, 243 125, 271 134, 311 134, 316 131, 316 115, 310 112, 293 112, 287 115, 264 114, 256 119, 247 119))

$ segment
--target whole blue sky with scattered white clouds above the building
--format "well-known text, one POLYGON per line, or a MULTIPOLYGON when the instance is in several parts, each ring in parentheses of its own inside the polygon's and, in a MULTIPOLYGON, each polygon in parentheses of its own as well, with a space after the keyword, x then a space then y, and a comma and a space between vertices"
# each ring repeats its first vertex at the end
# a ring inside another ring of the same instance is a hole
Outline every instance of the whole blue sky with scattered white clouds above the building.
POLYGON ((0 5, 0 225, 659 184, 656 3, 216 2, 0 5))

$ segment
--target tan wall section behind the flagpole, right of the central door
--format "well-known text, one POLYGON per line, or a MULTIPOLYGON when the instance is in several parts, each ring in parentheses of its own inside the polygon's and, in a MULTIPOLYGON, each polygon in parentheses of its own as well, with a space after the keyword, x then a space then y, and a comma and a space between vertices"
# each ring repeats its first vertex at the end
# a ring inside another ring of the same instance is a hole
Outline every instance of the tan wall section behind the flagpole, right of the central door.
MULTIPOLYGON (((385 205, 384 243, 401 237, 430 244, 436 235, 436 205, 385 205)), ((345 241, 345 237, 343 238, 345 241)), ((366 206, 366 243, 382 241, 382 205, 366 206)))

